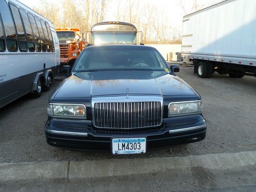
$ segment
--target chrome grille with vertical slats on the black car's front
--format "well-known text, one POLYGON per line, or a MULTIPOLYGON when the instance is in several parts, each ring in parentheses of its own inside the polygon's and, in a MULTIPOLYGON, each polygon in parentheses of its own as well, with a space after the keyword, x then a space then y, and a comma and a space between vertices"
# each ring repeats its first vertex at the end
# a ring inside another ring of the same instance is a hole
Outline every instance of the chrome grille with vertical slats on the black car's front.
POLYGON ((135 129, 161 125, 161 101, 96 102, 94 125, 111 129, 135 129))

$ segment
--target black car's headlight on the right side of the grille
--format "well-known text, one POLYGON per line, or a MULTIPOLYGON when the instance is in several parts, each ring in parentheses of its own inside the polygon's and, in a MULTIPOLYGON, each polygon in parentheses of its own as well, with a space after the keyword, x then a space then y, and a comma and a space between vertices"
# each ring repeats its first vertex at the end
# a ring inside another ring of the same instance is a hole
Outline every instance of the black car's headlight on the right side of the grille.
POLYGON ((171 102, 168 106, 168 116, 199 113, 203 111, 202 101, 171 102))

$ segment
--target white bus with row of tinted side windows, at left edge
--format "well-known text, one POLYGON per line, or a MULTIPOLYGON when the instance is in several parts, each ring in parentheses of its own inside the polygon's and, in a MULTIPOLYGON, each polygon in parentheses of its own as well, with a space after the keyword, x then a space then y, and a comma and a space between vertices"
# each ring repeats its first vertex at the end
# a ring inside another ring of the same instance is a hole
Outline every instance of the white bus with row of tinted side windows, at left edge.
POLYGON ((16 0, 0 0, 0 108, 48 91, 59 63, 52 22, 16 0))

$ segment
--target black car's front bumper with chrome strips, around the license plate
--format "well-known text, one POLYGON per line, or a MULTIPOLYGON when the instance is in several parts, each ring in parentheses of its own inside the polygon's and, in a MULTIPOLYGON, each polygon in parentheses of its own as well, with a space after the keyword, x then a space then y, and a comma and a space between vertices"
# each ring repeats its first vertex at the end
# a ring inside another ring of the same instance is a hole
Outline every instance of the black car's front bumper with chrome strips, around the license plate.
POLYGON ((201 141, 206 127, 202 115, 166 118, 161 127, 132 131, 97 130, 91 120, 49 119, 45 133, 52 146, 111 152, 112 138, 146 137, 147 150, 152 150, 201 141))

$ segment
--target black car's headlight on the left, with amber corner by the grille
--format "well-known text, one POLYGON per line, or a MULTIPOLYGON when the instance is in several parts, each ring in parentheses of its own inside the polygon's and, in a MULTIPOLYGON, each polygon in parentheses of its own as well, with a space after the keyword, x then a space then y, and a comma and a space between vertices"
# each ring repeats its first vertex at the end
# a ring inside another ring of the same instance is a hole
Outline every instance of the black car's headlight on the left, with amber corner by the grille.
POLYGON ((86 117, 86 106, 83 104, 49 104, 48 115, 59 117, 86 117))

